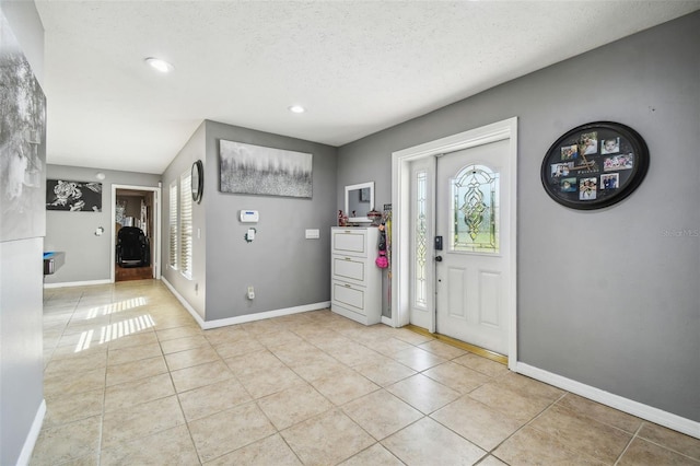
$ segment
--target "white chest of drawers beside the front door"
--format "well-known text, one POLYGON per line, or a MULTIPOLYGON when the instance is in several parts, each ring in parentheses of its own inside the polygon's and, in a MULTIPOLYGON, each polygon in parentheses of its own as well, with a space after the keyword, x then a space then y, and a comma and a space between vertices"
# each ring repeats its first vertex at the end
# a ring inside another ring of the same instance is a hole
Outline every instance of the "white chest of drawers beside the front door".
POLYGON ((330 310, 364 325, 382 321, 382 269, 376 228, 330 231, 330 310))

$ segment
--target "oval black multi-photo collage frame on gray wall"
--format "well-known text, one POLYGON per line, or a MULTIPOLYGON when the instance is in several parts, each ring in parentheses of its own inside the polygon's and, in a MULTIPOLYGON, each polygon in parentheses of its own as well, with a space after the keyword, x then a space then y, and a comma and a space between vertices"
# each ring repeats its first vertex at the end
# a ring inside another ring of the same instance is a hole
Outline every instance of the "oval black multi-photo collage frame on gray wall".
POLYGON ((562 206, 593 210, 631 195, 648 167, 649 149, 637 131, 597 121, 557 139, 542 161, 541 180, 549 197, 562 206))

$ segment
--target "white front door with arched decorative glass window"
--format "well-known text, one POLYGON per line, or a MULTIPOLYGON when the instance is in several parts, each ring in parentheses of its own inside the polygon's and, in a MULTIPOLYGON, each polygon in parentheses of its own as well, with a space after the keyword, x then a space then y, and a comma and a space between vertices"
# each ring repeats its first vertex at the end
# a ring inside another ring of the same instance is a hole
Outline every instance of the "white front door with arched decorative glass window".
POLYGON ((511 280, 509 140, 438 158, 436 331, 508 356, 511 280))

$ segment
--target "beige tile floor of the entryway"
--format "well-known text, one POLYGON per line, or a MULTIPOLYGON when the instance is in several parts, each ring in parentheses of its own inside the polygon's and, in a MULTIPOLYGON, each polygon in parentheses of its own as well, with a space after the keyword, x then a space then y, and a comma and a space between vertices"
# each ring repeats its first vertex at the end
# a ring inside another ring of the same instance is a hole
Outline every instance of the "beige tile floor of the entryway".
POLYGON ((45 291, 32 465, 700 465, 700 441, 329 311, 201 330, 159 281, 45 291))

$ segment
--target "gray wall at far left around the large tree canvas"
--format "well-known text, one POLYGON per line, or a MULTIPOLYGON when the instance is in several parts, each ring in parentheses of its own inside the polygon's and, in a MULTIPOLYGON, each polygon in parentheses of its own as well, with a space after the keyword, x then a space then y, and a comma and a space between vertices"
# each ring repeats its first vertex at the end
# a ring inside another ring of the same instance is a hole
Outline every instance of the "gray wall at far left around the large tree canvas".
MULTIPOLYGON (((0 1, 43 82, 44 27, 34 2, 0 1)), ((40 206, 37 206, 40 209, 40 206)), ((42 252, 34 237, 0 243, 0 464, 16 463, 44 398, 42 252)))

